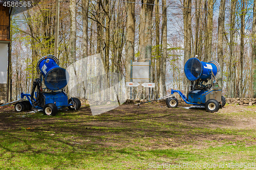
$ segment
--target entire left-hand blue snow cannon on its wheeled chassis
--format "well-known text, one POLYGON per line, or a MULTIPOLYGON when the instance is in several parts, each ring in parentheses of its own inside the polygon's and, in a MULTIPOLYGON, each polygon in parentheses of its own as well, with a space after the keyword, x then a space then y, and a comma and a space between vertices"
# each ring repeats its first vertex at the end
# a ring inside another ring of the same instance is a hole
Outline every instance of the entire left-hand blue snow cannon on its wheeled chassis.
POLYGON ((21 93, 21 100, 15 104, 16 111, 30 110, 32 107, 42 109, 44 115, 56 115, 58 109, 68 107, 70 110, 78 110, 81 102, 77 98, 70 98, 63 88, 69 82, 69 74, 65 68, 59 67, 56 57, 48 55, 37 62, 39 78, 33 82, 31 94, 21 93), (42 81, 45 87, 42 88, 42 81), (24 97, 28 101, 24 101, 24 97), (35 98, 34 98, 35 97, 35 98))

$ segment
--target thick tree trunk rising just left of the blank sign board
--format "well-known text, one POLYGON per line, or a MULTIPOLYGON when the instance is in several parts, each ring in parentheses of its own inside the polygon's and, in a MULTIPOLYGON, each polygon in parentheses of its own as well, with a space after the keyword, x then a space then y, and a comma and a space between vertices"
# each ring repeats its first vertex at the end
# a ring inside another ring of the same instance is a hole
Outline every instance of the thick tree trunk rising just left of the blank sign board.
MULTIPOLYGON (((135 2, 135 0, 130 0, 135 2)), ((135 40, 135 3, 126 3, 127 26, 126 26, 126 63, 125 63, 125 80, 131 81, 131 60, 134 61, 134 40, 135 40)), ((130 88, 126 87, 127 99, 130 97, 130 88)))

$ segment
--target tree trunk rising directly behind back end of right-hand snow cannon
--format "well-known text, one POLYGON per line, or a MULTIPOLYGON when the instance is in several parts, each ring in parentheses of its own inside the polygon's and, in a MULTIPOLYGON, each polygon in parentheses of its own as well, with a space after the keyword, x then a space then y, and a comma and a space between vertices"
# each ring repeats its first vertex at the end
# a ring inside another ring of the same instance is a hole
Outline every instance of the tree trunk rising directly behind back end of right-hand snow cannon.
POLYGON ((218 19, 218 62, 221 66, 220 76, 217 81, 219 87, 222 89, 223 77, 223 36, 224 36, 224 23, 225 23, 225 0, 221 0, 219 19, 218 19))

